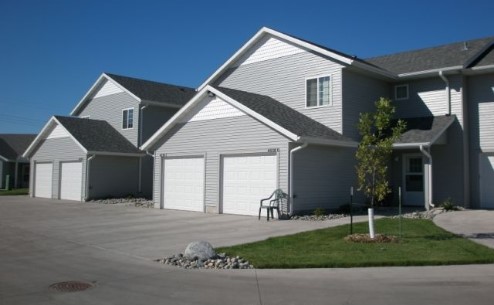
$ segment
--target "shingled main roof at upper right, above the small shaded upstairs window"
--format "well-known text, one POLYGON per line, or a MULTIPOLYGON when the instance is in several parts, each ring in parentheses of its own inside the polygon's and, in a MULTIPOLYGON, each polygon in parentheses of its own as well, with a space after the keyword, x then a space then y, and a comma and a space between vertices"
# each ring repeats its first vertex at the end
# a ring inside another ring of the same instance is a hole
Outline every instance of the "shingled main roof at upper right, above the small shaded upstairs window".
POLYGON ((405 74, 447 67, 463 66, 480 55, 485 47, 492 44, 494 37, 408 51, 374 58, 365 61, 396 74, 405 74), (466 48, 465 48, 466 46, 466 48))

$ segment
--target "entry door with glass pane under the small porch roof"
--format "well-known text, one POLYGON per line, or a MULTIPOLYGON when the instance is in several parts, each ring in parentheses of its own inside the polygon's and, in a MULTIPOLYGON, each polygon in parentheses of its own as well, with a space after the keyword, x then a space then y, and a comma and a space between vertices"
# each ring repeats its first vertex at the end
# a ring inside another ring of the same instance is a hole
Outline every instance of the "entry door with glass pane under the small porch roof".
POLYGON ((424 206, 424 162, 422 155, 405 155, 403 158, 403 203, 424 206))

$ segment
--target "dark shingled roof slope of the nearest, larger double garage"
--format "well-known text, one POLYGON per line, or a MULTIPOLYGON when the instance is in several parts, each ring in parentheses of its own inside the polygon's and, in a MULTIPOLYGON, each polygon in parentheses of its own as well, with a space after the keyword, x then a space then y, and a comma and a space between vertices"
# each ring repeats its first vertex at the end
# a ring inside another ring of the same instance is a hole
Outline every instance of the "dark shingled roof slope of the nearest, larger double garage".
POLYGON ((269 96, 223 87, 216 89, 297 136, 353 142, 269 96))

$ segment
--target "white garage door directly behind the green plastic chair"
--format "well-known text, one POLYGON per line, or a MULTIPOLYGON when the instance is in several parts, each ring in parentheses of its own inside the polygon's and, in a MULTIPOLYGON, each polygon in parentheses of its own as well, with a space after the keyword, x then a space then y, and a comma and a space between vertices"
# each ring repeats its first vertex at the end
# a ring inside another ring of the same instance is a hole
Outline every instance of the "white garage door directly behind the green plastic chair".
POLYGON ((223 157, 223 213, 257 215, 277 188, 276 156, 223 157))

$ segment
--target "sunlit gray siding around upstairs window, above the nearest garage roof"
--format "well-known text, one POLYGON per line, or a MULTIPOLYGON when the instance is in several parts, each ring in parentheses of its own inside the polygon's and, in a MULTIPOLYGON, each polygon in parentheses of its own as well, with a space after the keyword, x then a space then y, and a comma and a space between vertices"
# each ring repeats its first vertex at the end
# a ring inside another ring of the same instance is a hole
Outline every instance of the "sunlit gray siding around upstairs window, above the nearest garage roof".
POLYGON ((303 52, 231 68, 215 84, 270 96, 342 132, 342 67, 327 58, 303 52), (306 108, 306 79, 321 76, 331 76, 332 105, 306 108))

